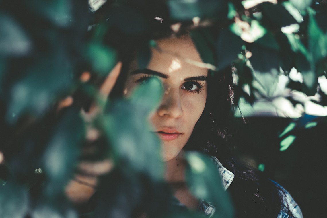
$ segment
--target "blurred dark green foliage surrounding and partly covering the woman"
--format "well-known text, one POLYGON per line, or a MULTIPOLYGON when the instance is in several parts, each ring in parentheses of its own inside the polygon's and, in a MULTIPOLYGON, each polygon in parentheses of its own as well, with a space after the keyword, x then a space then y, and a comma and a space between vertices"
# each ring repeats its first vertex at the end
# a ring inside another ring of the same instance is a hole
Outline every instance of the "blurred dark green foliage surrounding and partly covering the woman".
MULTIPOLYGON (((92 12, 86 0, 0 1, 0 151, 6 166, 0 217, 128 217, 138 207, 150 217, 202 217, 174 204, 163 181, 158 139, 144 130, 162 95, 156 81, 128 99, 107 102, 94 119, 80 110, 99 101, 99 84, 126 47, 136 45, 139 66, 146 67, 162 29, 175 35, 189 31, 201 66, 214 73, 233 64, 235 103, 271 97, 278 76, 294 67, 303 82, 290 80, 289 87, 320 95, 317 103, 326 106, 326 93, 317 87, 327 71, 327 5, 276 2, 108 0, 92 12), (84 81, 84 73, 91 79, 84 81), (61 109, 67 96, 74 102, 61 109), (90 128, 100 135, 95 142, 88 140, 90 128), (96 151, 81 153, 90 143, 96 151), (110 159, 113 168, 99 178, 94 212, 77 215, 65 187, 85 159, 110 159)), ((314 126, 291 123, 280 134, 281 151, 296 140, 292 131, 314 126)), ((232 203, 212 176, 217 173, 210 159, 189 153, 187 160, 194 195, 220 205, 216 214, 232 217, 232 203)))

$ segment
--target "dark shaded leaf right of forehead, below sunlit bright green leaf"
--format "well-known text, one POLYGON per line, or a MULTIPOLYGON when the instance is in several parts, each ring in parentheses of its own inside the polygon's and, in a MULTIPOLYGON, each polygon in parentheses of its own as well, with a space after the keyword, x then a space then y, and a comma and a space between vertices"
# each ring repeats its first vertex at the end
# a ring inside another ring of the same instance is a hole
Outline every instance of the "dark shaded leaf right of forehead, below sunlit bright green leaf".
POLYGON ((244 41, 231 32, 229 29, 220 31, 216 42, 217 49, 217 67, 224 69, 234 60, 238 59, 238 54, 242 51, 244 41))

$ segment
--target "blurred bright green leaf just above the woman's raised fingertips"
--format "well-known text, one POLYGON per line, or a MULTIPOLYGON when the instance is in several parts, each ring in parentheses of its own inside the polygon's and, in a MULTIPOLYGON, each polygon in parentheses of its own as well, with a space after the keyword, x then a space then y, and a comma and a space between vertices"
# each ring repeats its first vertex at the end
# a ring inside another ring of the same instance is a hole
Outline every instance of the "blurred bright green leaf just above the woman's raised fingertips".
POLYGON ((100 75, 108 75, 117 62, 116 51, 100 43, 90 43, 87 55, 92 69, 100 75))

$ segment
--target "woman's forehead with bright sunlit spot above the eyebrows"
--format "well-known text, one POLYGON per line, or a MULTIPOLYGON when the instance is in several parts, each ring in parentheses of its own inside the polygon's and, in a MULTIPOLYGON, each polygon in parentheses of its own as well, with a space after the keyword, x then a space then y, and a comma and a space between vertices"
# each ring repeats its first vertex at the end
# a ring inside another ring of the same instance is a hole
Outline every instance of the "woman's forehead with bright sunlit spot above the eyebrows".
POLYGON ((152 49, 148 69, 170 77, 207 75, 207 69, 189 63, 190 60, 202 62, 190 37, 158 40, 157 44, 158 48, 152 49))

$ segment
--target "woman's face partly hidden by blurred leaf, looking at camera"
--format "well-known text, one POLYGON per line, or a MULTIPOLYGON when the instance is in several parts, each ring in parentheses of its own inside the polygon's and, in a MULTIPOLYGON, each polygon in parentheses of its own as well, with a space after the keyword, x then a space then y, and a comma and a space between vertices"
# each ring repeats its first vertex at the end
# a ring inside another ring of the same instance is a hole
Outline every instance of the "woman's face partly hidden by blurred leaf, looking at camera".
POLYGON ((124 94, 149 76, 155 76, 164 88, 160 106, 150 114, 150 122, 162 142, 163 160, 177 157, 187 143, 206 102, 207 69, 185 62, 202 62, 189 37, 157 41, 161 52, 152 50, 152 58, 145 70, 138 70, 134 61, 129 70, 124 94))

